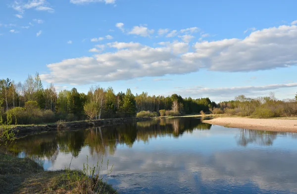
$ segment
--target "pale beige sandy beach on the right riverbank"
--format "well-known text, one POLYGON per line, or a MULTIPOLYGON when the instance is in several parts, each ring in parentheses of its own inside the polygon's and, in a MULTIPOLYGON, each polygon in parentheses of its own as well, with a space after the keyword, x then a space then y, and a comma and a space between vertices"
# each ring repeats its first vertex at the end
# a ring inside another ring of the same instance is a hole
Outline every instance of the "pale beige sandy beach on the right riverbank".
POLYGON ((277 132, 297 132, 297 120, 289 119, 251 119, 237 117, 222 117, 215 118, 212 120, 204 120, 203 122, 231 128, 277 132))

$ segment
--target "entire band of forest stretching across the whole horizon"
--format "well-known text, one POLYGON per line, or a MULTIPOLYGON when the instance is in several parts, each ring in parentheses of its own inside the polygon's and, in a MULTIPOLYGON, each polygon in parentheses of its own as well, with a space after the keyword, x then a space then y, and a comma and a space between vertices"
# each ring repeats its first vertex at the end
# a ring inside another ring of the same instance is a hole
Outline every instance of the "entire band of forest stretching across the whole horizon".
POLYGON ((208 97, 149 96, 146 92, 133 95, 130 89, 115 94, 112 87, 99 86, 92 86, 87 94, 79 93, 76 88, 56 92, 53 84, 44 88, 38 72, 28 75, 23 83, 15 83, 9 78, 0 80, 0 123, 40 124, 198 113, 256 118, 296 116, 297 95, 287 100, 279 100, 273 93, 257 98, 241 95, 234 100, 215 103, 208 97))

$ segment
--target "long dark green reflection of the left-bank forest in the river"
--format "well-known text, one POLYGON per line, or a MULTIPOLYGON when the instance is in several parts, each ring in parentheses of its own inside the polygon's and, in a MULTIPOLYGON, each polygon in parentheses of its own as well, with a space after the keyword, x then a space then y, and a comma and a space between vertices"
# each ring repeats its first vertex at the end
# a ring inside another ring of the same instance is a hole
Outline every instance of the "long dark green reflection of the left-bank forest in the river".
POLYGON ((199 119, 157 119, 138 123, 96 127, 86 130, 42 134, 20 139, 9 147, 10 151, 24 153, 29 157, 47 158, 55 161, 59 152, 79 155, 88 146, 90 154, 113 154, 118 144, 132 147, 136 141, 147 143, 157 137, 180 137, 194 130, 209 130, 210 124, 199 119))

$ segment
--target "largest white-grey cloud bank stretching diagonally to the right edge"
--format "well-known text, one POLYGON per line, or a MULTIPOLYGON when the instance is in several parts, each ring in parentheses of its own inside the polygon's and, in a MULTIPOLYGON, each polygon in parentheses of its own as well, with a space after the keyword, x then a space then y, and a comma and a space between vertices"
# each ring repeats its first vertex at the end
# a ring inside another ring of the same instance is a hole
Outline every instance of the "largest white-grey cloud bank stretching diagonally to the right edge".
POLYGON ((189 44, 176 41, 158 47, 117 42, 107 46, 118 50, 49 64, 50 73, 43 75, 44 80, 84 84, 185 74, 201 68, 247 72, 288 67, 297 64, 297 26, 266 28, 245 39, 197 42, 191 52, 189 44), (81 75, 79 79, 77 75, 81 75))

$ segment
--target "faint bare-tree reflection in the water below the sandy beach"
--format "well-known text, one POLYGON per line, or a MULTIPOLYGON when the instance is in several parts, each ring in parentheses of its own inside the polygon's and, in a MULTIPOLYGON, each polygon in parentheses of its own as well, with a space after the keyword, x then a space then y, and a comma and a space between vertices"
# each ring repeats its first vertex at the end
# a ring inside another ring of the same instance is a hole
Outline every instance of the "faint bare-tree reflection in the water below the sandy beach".
POLYGON ((247 146, 251 143, 272 145, 278 134, 286 135, 287 133, 241 129, 240 135, 236 138, 238 145, 242 146, 247 146))

